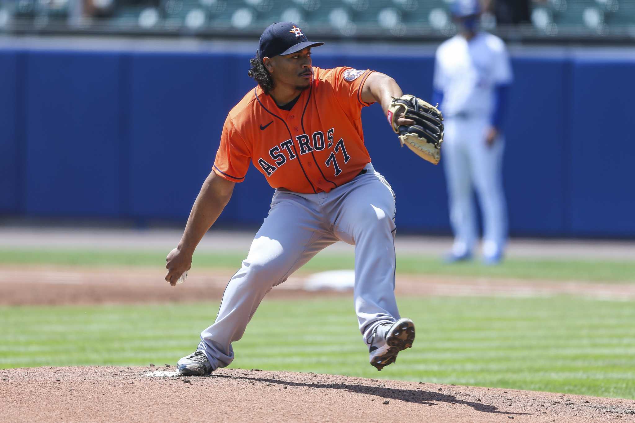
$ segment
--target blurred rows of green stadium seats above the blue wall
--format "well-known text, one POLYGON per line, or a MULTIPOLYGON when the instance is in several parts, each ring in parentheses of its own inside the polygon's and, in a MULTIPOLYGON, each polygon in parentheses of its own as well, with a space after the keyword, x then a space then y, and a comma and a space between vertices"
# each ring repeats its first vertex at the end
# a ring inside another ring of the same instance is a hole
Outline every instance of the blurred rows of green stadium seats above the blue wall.
MULTIPOLYGON (((77 0, 0 0, 0 30, 12 23, 65 25, 81 13, 77 0), (79 9, 78 9, 79 10, 79 9)), ((290 20, 330 36, 400 37, 451 34, 448 8, 454 0, 93 0, 84 27, 112 30, 185 30, 229 35, 258 32, 269 23, 290 20)), ((634 0, 535 0, 525 30, 555 36, 622 31, 635 37, 634 0)), ((488 29, 497 29, 493 16, 488 29)))

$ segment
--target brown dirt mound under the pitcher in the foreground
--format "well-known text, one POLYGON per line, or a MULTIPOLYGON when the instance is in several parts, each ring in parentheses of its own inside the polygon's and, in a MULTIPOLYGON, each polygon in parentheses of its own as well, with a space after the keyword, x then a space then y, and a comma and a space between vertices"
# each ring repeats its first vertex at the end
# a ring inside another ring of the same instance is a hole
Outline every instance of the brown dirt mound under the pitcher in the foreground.
POLYGON ((0 419, 172 423, 635 421, 632 400, 257 369, 219 369, 208 377, 174 377, 173 370, 0 370, 0 419))

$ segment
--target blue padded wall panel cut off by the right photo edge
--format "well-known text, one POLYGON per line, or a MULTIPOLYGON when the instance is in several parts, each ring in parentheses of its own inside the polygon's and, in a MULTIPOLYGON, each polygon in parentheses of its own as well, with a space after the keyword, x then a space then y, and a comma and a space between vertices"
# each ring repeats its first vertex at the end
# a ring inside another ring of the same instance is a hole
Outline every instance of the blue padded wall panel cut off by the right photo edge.
POLYGON ((635 237, 635 60, 573 64, 571 231, 635 237))

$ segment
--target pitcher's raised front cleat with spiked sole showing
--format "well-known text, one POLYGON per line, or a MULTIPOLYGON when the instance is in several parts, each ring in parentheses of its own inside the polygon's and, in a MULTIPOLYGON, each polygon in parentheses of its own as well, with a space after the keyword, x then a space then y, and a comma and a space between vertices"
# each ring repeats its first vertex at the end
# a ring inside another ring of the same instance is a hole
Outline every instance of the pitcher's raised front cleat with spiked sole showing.
POLYGON ((380 323, 368 342, 370 364, 382 370, 397 360, 399 351, 411 348, 414 341, 415 323, 412 320, 404 318, 394 323, 380 323))

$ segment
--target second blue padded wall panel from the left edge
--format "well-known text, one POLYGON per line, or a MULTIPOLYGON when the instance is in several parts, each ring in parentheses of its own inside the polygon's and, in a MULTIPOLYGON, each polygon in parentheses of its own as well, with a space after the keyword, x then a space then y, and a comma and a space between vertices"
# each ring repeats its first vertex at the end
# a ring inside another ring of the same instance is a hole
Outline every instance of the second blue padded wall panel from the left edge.
POLYGON ((25 212, 119 216, 120 55, 30 51, 24 75, 25 212))

